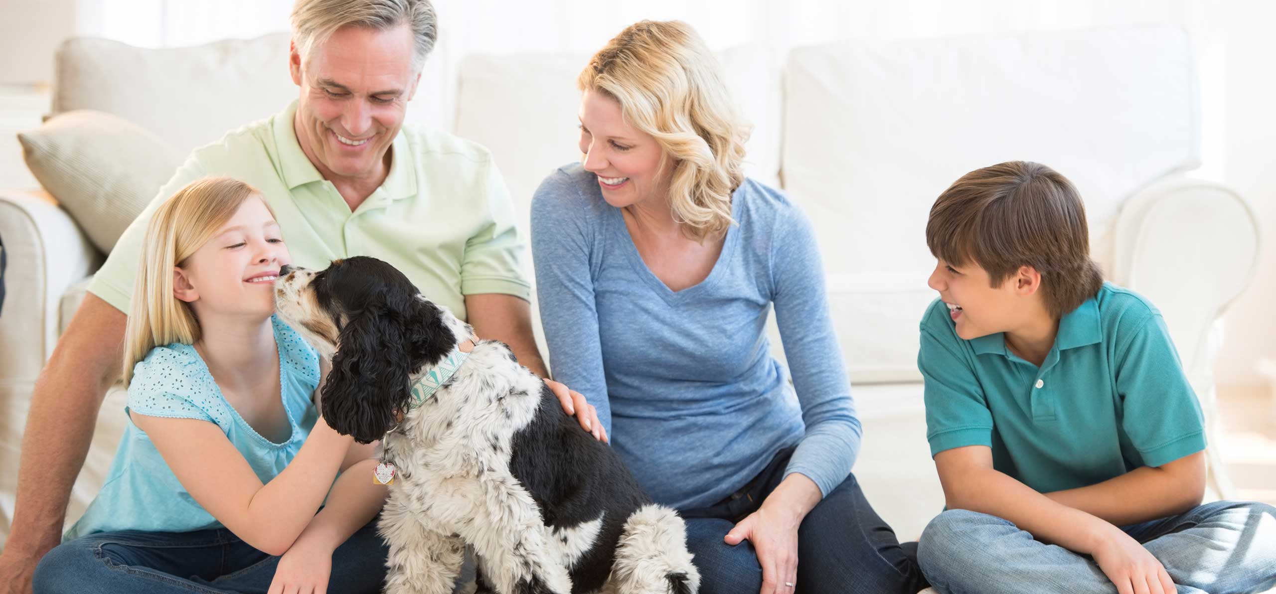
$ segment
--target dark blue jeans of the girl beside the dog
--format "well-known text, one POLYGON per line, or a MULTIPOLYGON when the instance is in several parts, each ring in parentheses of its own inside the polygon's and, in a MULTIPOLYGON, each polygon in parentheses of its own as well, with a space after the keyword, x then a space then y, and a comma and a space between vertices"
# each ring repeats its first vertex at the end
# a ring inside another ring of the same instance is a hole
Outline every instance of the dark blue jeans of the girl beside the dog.
MULTIPOLYGON (((378 593, 389 549, 376 520, 332 554, 328 591, 378 593)), ((265 593, 279 557, 263 553, 226 529, 188 533, 125 530, 65 542, 36 567, 36 594, 265 593)))

